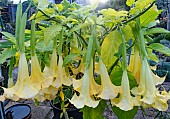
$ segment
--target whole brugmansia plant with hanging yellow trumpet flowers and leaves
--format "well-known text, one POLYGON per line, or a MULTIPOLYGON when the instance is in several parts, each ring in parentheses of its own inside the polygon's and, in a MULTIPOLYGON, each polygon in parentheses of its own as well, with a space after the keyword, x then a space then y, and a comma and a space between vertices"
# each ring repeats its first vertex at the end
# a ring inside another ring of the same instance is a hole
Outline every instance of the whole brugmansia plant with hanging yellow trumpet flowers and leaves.
POLYGON ((103 118, 109 103, 113 111, 123 112, 116 114, 120 118, 139 106, 166 111, 170 93, 160 87, 165 77, 155 75, 148 61, 158 61, 152 50, 170 56, 167 47, 151 44, 154 34, 170 32, 155 27, 161 13, 155 0, 127 0, 126 4, 129 11, 97 11, 98 2, 80 6, 66 0, 61 4, 30 1, 37 12, 29 18, 31 30, 25 30, 27 10, 22 14, 19 3, 15 37, 3 32, 12 45, 0 56, 4 57, 1 63, 11 57, 11 69, 18 65, 18 79, 14 83, 9 73, 8 88, 3 87, 0 99, 59 98, 81 109, 84 119, 103 118), (69 98, 66 88, 72 90, 69 98))

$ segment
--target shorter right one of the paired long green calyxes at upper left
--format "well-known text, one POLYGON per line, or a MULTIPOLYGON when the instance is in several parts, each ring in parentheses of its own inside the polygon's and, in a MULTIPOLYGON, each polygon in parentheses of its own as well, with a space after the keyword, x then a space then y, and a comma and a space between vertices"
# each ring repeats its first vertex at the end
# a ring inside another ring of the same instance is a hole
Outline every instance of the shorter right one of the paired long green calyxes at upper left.
POLYGON ((24 13, 21 19, 20 36, 19 36, 19 48, 20 52, 24 52, 24 41, 25 41, 25 27, 27 21, 27 13, 24 13))

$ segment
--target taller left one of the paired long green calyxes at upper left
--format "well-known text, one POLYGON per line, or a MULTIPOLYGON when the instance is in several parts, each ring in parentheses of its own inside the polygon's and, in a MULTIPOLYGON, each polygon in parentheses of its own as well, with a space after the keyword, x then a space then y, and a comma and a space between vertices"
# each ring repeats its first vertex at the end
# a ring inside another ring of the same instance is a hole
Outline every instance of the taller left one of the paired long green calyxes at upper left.
POLYGON ((19 46, 21 16, 22 16, 22 4, 20 2, 17 6, 16 23, 15 23, 15 38, 16 38, 16 47, 17 48, 19 46))

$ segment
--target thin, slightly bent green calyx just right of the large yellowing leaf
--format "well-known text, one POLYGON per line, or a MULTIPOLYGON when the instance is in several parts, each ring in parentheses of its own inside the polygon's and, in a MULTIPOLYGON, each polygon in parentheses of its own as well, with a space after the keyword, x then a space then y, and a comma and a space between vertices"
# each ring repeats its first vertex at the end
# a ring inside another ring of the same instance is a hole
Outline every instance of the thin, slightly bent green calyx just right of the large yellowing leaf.
POLYGON ((123 71, 127 69, 127 53, 126 53, 126 41, 125 36, 123 35, 123 32, 121 30, 121 27, 119 27, 119 32, 122 37, 122 69, 123 71))

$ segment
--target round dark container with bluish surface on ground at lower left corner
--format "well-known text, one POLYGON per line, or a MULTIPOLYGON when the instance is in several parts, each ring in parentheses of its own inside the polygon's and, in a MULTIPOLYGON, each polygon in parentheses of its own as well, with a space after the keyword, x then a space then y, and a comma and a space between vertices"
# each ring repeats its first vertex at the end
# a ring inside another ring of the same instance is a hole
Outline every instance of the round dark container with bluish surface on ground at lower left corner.
POLYGON ((27 104, 16 104, 5 110, 5 119, 31 119, 31 107, 27 104))

